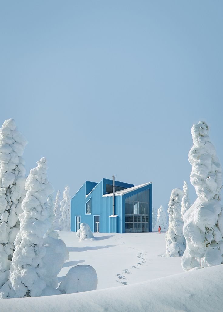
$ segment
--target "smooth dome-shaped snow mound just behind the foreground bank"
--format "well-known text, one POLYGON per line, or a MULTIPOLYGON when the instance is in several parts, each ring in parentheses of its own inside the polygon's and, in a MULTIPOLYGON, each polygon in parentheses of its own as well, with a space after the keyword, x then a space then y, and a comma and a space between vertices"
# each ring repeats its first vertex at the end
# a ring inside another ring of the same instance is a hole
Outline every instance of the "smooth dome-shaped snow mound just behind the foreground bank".
POLYGON ((59 290, 62 294, 96 290, 97 272, 92 266, 73 266, 60 283, 59 290))

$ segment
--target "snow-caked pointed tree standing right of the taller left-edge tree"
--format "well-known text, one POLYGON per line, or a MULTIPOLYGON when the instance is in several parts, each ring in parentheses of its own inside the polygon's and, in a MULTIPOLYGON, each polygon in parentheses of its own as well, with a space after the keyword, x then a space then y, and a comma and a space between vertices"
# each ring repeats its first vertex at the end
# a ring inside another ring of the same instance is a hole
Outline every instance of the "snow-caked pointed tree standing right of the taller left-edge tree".
POLYGON ((51 227, 47 198, 54 191, 47 179, 47 168, 43 157, 37 162, 37 167, 30 170, 25 182, 24 212, 19 216, 20 230, 10 270, 15 298, 40 296, 47 287, 45 275, 51 263, 47 267, 42 261, 46 255, 43 236, 51 227))

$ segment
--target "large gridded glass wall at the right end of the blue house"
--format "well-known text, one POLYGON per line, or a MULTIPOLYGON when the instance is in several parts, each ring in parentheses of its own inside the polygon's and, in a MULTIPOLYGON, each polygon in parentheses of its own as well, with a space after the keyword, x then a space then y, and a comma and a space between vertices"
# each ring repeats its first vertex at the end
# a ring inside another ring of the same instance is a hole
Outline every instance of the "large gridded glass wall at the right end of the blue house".
POLYGON ((149 190, 125 199, 125 232, 149 232, 149 190))

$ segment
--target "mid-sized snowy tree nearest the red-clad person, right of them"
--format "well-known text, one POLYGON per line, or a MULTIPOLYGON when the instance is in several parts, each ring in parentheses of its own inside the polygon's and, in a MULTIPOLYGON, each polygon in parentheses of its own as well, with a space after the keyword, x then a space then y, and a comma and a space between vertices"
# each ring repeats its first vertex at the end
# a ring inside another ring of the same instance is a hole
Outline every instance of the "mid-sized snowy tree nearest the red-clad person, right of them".
POLYGON ((171 192, 170 201, 168 204, 169 228, 166 232, 166 253, 165 257, 182 256, 186 241, 183 236, 183 220, 181 217, 181 202, 184 192, 180 188, 174 188, 171 192))

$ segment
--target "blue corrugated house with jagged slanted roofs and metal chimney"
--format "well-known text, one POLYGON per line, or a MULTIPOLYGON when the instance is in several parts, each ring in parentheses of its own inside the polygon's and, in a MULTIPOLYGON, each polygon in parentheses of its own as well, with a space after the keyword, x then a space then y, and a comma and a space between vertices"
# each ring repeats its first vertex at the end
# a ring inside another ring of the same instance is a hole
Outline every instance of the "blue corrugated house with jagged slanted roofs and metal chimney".
POLYGON ((114 176, 113 181, 86 181, 71 200, 71 231, 82 222, 92 232, 152 232, 152 183, 134 186, 114 176))

